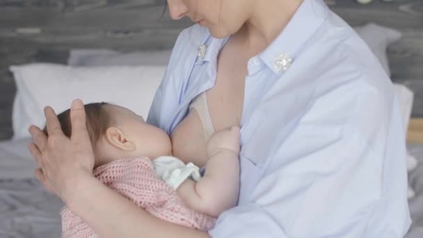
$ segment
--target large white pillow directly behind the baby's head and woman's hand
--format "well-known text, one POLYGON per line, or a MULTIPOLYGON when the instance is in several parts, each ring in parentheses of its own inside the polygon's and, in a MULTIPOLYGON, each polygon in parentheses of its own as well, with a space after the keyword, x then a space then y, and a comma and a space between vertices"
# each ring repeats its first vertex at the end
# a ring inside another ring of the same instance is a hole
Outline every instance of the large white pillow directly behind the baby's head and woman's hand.
POLYGON ((28 127, 43 127, 43 108, 56 113, 79 98, 85 104, 110 102, 125 106, 147 118, 165 66, 125 66, 72 68, 65 65, 34 63, 11 66, 17 85, 13 104, 13 139, 29 136, 28 127))

